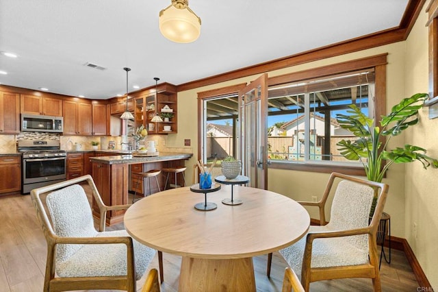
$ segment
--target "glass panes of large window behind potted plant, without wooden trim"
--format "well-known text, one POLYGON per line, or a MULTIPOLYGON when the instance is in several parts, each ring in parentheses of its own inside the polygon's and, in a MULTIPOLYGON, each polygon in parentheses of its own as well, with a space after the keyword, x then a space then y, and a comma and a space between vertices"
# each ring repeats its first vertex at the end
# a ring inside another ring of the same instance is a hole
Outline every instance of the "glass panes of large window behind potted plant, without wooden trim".
POLYGON ((374 117, 374 69, 271 86, 268 93, 271 160, 358 163, 337 150, 338 141, 355 136, 339 127, 336 114, 355 104, 374 117))

